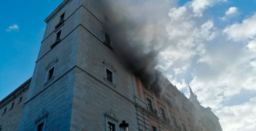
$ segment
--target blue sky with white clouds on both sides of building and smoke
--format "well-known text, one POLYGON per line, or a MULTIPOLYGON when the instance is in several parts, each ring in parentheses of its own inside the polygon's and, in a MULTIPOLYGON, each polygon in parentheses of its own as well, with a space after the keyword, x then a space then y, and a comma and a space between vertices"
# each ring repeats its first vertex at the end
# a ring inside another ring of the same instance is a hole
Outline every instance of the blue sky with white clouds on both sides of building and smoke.
MULTIPOLYGON (((176 44, 159 54, 158 68, 186 96, 188 81, 225 131, 255 131, 256 0, 170 1, 163 13, 176 44)), ((32 76, 43 20, 61 2, 0 1, 0 100, 32 76)))

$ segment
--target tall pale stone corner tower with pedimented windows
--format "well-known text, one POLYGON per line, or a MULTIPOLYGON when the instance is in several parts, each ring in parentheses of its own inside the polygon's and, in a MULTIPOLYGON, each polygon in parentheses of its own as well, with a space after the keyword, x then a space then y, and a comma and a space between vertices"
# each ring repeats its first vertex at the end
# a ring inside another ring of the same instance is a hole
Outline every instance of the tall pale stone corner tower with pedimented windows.
POLYGON ((137 130, 133 75, 106 46, 99 0, 64 0, 45 22, 19 131, 102 131, 122 120, 137 130))

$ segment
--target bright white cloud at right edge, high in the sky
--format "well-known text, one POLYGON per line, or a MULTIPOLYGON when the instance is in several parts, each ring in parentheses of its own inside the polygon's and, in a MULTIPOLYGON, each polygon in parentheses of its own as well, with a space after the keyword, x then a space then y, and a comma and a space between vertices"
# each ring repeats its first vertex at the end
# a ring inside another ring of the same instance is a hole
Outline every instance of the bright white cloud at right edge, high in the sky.
POLYGON ((223 33, 228 35, 229 39, 247 40, 254 39, 256 35, 256 13, 240 24, 233 24, 223 30, 223 33))

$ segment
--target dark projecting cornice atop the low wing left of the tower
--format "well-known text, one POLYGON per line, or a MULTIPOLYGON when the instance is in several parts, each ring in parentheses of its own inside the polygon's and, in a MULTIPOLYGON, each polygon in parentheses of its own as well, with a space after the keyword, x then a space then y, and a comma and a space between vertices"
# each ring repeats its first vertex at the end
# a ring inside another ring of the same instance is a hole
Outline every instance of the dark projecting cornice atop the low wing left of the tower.
POLYGON ((2 99, 0 101, 0 109, 5 107, 7 104, 9 104, 11 101, 13 101, 17 96, 22 94, 24 91, 29 89, 29 84, 31 82, 31 78, 29 78, 26 82, 24 82, 21 86, 19 86, 17 89, 15 89, 12 93, 10 93, 8 96, 2 99))

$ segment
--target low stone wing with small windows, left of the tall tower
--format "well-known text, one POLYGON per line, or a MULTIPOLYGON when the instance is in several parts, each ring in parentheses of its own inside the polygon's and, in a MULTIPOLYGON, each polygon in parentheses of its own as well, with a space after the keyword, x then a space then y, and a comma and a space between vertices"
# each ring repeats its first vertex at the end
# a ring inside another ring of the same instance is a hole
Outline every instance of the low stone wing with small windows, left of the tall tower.
POLYGON ((31 78, 0 101, 0 131, 17 131, 30 82, 31 78))

